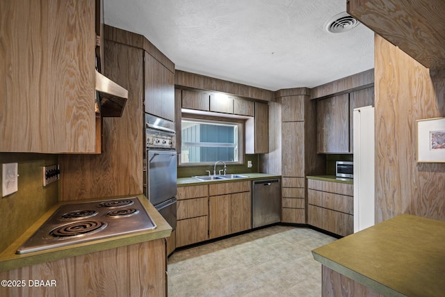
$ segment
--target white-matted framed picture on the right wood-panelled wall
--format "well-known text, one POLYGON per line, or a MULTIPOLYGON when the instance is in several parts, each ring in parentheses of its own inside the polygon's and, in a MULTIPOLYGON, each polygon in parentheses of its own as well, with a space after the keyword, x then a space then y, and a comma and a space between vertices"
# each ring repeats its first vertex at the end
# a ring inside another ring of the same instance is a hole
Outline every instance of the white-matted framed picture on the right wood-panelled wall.
POLYGON ((445 162, 445 118, 417 120, 417 162, 445 162))

